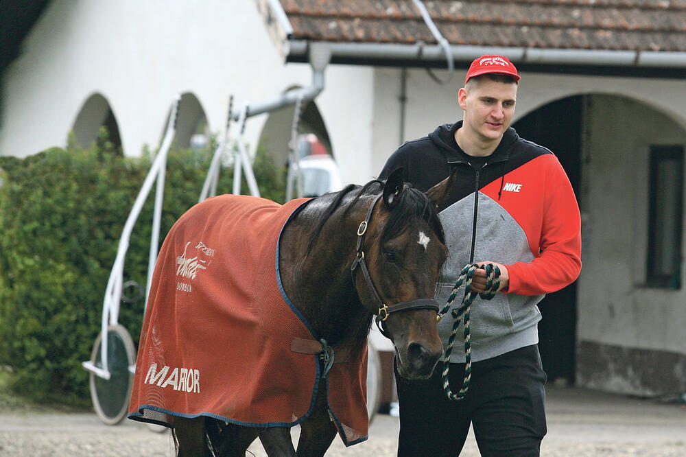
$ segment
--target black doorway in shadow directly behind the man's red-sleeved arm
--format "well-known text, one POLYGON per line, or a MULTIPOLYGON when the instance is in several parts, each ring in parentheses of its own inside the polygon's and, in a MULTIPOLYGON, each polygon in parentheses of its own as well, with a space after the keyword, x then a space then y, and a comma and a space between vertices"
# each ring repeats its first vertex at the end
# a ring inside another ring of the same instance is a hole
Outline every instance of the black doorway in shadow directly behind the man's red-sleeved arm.
MULTIPOLYGON (((520 137, 552 150, 562 163, 579 201, 581 178, 582 95, 557 100, 512 124, 520 137)), ((549 382, 574 382, 576 353, 576 282, 547 294, 539 303, 539 349, 549 382)))

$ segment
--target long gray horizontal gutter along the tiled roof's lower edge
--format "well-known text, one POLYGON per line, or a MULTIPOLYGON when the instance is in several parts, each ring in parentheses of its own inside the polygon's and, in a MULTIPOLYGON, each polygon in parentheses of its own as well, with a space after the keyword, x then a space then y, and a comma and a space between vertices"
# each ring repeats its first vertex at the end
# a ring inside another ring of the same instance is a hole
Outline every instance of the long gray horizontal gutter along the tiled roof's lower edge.
MULTIPOLYGON (((408 62, 415 67, 434 67, 445 65, 446 51, 441 45, 414 43, 332 43, 308 40, 288 40, 286 60, 302 62, 309 47, 326 43, 331 49, 331 63, 359 63, 374 65, 407 66, 408 62), (379 65, 379 64, 377 64, 379 65)), ((517 65, 580 65, 584 67, 633 67, 633 68, 686 68, 686 52, 670 51, 611 51, 592 49, 541 49, 527 47, 493 47, 450 45, 450 51, 456 62, 469 63, 475 56, 484 54, 501 54, 517 65)), ((412 65, 410 65, 412 66, 412 65)))

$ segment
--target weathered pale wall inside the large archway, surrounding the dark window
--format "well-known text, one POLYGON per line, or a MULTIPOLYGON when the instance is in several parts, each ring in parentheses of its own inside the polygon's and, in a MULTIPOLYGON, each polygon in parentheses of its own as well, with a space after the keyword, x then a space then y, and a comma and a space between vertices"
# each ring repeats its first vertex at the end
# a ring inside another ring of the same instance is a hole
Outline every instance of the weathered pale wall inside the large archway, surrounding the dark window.
POLYGON ((590 236, 584 237, 578 338, 686 354, 686 290, 644 285, 649 147, 684 145, 686 132, 664 113, 611 96, 593 99, 587 122, 593 136, 583 204, 590 236))

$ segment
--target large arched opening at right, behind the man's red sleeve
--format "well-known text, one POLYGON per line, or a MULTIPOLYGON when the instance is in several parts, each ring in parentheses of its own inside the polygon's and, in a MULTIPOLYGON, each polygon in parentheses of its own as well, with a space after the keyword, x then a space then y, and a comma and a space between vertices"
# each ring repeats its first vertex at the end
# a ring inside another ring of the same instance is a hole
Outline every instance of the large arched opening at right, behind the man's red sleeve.
POLYGON ((676 323, 686 312, 674 305, 685 287, 683 120, 632 97, 588 93, 541 106, 513 127, 558 156, 582 213, 582 274, 539 305, 549 380, 637 395, 681 391, 683 377, 668 367, 684 357, 676 323))

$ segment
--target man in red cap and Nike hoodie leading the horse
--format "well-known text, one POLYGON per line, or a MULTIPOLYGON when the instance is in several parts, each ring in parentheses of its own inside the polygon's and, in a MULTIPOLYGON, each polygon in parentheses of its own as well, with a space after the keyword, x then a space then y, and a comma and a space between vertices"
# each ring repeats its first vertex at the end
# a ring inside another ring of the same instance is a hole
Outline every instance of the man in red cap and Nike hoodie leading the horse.
MULTIPOLYGON (((446 303, 466 264, 493 263, 501 272, 495 298, 476 298, 471 305, 473 364, 464 399, 446 397, 442 366, 426 381, 396 375, 399 456, 456 456, 470 423, 483 456, 539 455, 546 377, 536 303, 578 277, 581 222, 556 156, 510 128, 519 80, 503 56, 474 60, 458 92, 463 120, 403 144, 380 175, 403 167, 406 180, 426 190, 457 168, 456 183, 439 208, 450 251, 436 288, 439 303, 446 303)), ((472 288, 483 292, 485 286, 486 271, 476 270, 472 288)), ((447 313, 438 325, 444 344, 452 327, 447 313)), ((453 392, 464 376, 461 337, 460 330, 449 364, 453 392)))

